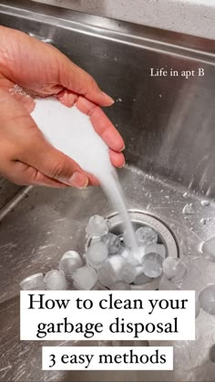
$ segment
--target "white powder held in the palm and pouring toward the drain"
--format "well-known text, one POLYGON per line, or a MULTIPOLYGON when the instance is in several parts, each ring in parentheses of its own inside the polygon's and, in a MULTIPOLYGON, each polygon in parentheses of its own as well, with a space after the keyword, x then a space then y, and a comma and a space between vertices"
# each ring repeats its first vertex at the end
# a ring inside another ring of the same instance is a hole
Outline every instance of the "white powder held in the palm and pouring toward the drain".
POLYGON ((55 98, 36 99, 31 114, 38 128, 57 150, 76 160, 83 170, 97 177, 108 199, 121 214, 126 240, 131 251, 138 248, 123 193, 113 168, 106 143, 97 135, 90 119, 77 109, 67 108, 55 98))

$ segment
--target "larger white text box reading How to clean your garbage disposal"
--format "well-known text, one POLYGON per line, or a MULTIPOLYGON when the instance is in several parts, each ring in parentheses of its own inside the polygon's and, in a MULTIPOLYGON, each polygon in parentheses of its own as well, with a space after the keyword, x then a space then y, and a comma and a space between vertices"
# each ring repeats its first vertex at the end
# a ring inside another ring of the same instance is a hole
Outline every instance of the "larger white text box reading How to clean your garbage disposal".
POLYGON ((22 340, 193 340, 194 291, 22 291, 22 340))

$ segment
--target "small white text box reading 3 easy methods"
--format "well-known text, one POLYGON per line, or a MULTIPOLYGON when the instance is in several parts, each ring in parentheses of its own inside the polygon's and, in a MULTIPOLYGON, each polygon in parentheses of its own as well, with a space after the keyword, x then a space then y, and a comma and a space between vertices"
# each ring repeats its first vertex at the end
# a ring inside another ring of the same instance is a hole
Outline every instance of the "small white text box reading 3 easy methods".
POLYGON ((173 370, 169 346, 45 346, 43 370, 173 370))

